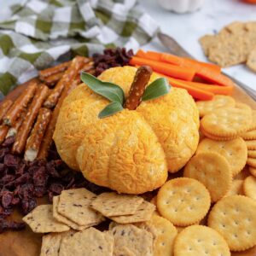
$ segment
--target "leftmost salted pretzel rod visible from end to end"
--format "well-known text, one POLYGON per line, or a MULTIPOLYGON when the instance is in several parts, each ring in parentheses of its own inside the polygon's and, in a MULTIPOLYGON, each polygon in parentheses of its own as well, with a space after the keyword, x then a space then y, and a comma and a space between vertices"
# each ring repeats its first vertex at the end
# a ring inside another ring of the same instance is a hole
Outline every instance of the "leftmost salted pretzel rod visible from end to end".
POLYGON ((11 108, 7 111, 3 118, 3 124, 13 126, 15 123, 15 120, 19 118, 20 113, 23 108, 26 108, 28 102, 31 101, 32 97, 34 96, 34 93, 38 87, 38 84, 36 82, 32 82, 31 84, 28 84, 26 87, 26 90, 24 90, 20 96, 17 98, 17 100, 14 102, 11 108))

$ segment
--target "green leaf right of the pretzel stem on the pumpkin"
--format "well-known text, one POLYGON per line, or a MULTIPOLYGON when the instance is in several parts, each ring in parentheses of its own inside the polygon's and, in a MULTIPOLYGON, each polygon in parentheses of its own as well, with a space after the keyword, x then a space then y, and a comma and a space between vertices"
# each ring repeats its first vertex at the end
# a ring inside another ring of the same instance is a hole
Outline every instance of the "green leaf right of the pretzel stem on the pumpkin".
POLYGON ((168 80, 165 78, 160 78, 154 80, 151 84, 148 85, 146 90, 143 93, 143 101, 149 101, 156 99, 160 96, 166 95, 171 90, 171 87, 168 83, 168 80))

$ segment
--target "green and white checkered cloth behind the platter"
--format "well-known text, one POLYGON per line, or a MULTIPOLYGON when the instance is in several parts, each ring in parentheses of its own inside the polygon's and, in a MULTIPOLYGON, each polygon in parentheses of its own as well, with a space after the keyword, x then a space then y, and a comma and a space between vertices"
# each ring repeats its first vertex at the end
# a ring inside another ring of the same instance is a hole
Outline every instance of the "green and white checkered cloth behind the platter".
POLYGON ((0 23, 0 98, 66 55, 137 49, 158 31, 137 0, 23 0, 0 23))

